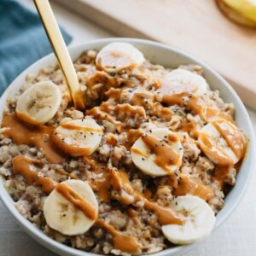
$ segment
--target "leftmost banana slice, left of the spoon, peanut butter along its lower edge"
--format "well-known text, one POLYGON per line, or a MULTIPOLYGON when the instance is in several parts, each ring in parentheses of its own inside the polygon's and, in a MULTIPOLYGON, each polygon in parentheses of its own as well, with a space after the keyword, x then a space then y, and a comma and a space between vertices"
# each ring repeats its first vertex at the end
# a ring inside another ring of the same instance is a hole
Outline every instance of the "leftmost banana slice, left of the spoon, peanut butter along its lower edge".
POLYGON ((61 105, 61 91, 50 81, 33 84, 18 98, 17 116, 30 125, 44 125, 61 105))

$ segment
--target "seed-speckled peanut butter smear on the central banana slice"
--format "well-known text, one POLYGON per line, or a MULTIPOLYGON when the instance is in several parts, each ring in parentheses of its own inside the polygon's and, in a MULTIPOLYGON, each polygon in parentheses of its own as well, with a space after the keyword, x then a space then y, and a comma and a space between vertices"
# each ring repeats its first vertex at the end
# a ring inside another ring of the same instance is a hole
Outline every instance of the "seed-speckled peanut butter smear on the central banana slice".
POLYGON ((154 162, 166 172, 171 172, 169 166, 177 165, 179 154, 174 151, 167 143, 161 141, 158 137, 152 134, 147 134, 142 137, 143 142, 147 144, 148 148, 155 154, 154 162))

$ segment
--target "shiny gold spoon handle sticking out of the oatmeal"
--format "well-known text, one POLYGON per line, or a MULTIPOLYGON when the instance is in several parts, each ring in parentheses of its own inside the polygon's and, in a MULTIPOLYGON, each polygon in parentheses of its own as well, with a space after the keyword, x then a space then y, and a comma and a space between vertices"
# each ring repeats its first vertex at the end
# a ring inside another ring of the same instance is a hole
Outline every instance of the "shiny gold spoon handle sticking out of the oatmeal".
POLYGON ((66 80, 74 107, 84 109, 84 97, 79 85, 77 73, 73 67, 73 61, 67 51, 66 44, 62 38, 60 28, 55 20, 55 15, 48 0, 34 0, 38 15, 44 25, 44 30, 49 43, 61 67, 61 72, 66 80))

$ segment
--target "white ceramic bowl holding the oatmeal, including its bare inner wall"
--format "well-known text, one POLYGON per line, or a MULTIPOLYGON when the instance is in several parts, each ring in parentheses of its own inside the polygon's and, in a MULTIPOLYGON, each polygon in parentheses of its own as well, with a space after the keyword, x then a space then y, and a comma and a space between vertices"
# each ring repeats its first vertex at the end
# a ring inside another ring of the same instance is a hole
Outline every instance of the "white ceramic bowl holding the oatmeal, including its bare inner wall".
MULTIPOLYGON (((218 212, 217 222, 214 228, 214 230, 216 230, 218 226, 223 224, 224 220, 230 216, 230 213, 234 211, 238 202, 241 201, 241 195, 244 194, 244 191, 247 188, 247 183, 253 170, 253 156, 255 148, 253 139, 253 127, 246 108, 241 102, 239 96, 236 95, 236 92, 231 88, 230 84, 228 84, 218 73, 212 70, 211 67, 208 67, 205 63, 198 61, 190 55, 185 54, 177 49, 173 49, 172 47, 165 44, 135 38, 106 38, 70 47, 69 53, 72 59, 75 60, 86 49, 101 49, 105 44, 109 44, 115 41, 122 41, 133 44, 135 47, 137 47, 137 49, 140 49, 143 52, 148 60, 152 61, 153 63, 161 64, 165 67, 177 67, 180 64, 189 63, 201 65, 201 67, 204 69, 204 77, 207 79, 212 90, 219 90, 220 96, 224 99, 225 102, 232 102, 235 105, 236 122, 249 138, 249 145, 247 155, 237 176, 236 186, 231 189, 230 193, 225 197, 224 208, 218 212)), ((26 74, 38 73, 40 68, 54 64, 55 61, 55 55, 47 55, 40 61, 34 63, 31 67, 28 67, 17 77, 17 79, 15 79, 12 84, 10 84, 9 89, 4 92, 0 99, 1 119, 7 96, 9 94, 15 94, 15 92, 20 89, 20 86, 25 81, 26 74)), ((31 222, 29 222, 26 218, 23 218, 16 210, 14 207, 14 201, 4 189, 2 182, 0 182, 0 198, 2 199, 5 207, 7 207, 9 212, 15 217, 20 226, 44 247, 47 247, 53 252, 59 253, 61 255, 96 256, 94 253, 86 253, 72 247, 67 247, 64 244, 49 238, 49 236, 44 235, 41 230, 38 230, 31 222)), ((171 256, 185 253, 191 250, 191 248, 195 247, 197 244, 198 243, 189 246, 172 247, 160 253, 155 253, 154 256, 171 256)))

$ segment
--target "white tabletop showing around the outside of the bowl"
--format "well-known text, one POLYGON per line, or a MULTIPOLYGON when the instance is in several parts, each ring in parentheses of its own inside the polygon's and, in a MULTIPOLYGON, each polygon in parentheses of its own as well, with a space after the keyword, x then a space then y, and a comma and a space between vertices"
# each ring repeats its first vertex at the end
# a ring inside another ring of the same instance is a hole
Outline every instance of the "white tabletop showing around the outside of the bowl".
MULTIPOLYGON (((23 0, 33 8, 32 0, 23 0)), ((62 26, 73 36, 72 44, 79 44, 95 38, 108 38, 114 35, 95 26, 67 9, 52 3, 55 16, 62 26)), ((256 112, 248 109, 256 134, 256 112)), ((241 203, 230 218, 207 241, 183 256, 254 256, 256 255, 256 172, 241 203)), ((54 256, 15 224, 15 219, 7 212, 0 201, 0 256, 54 256)))

